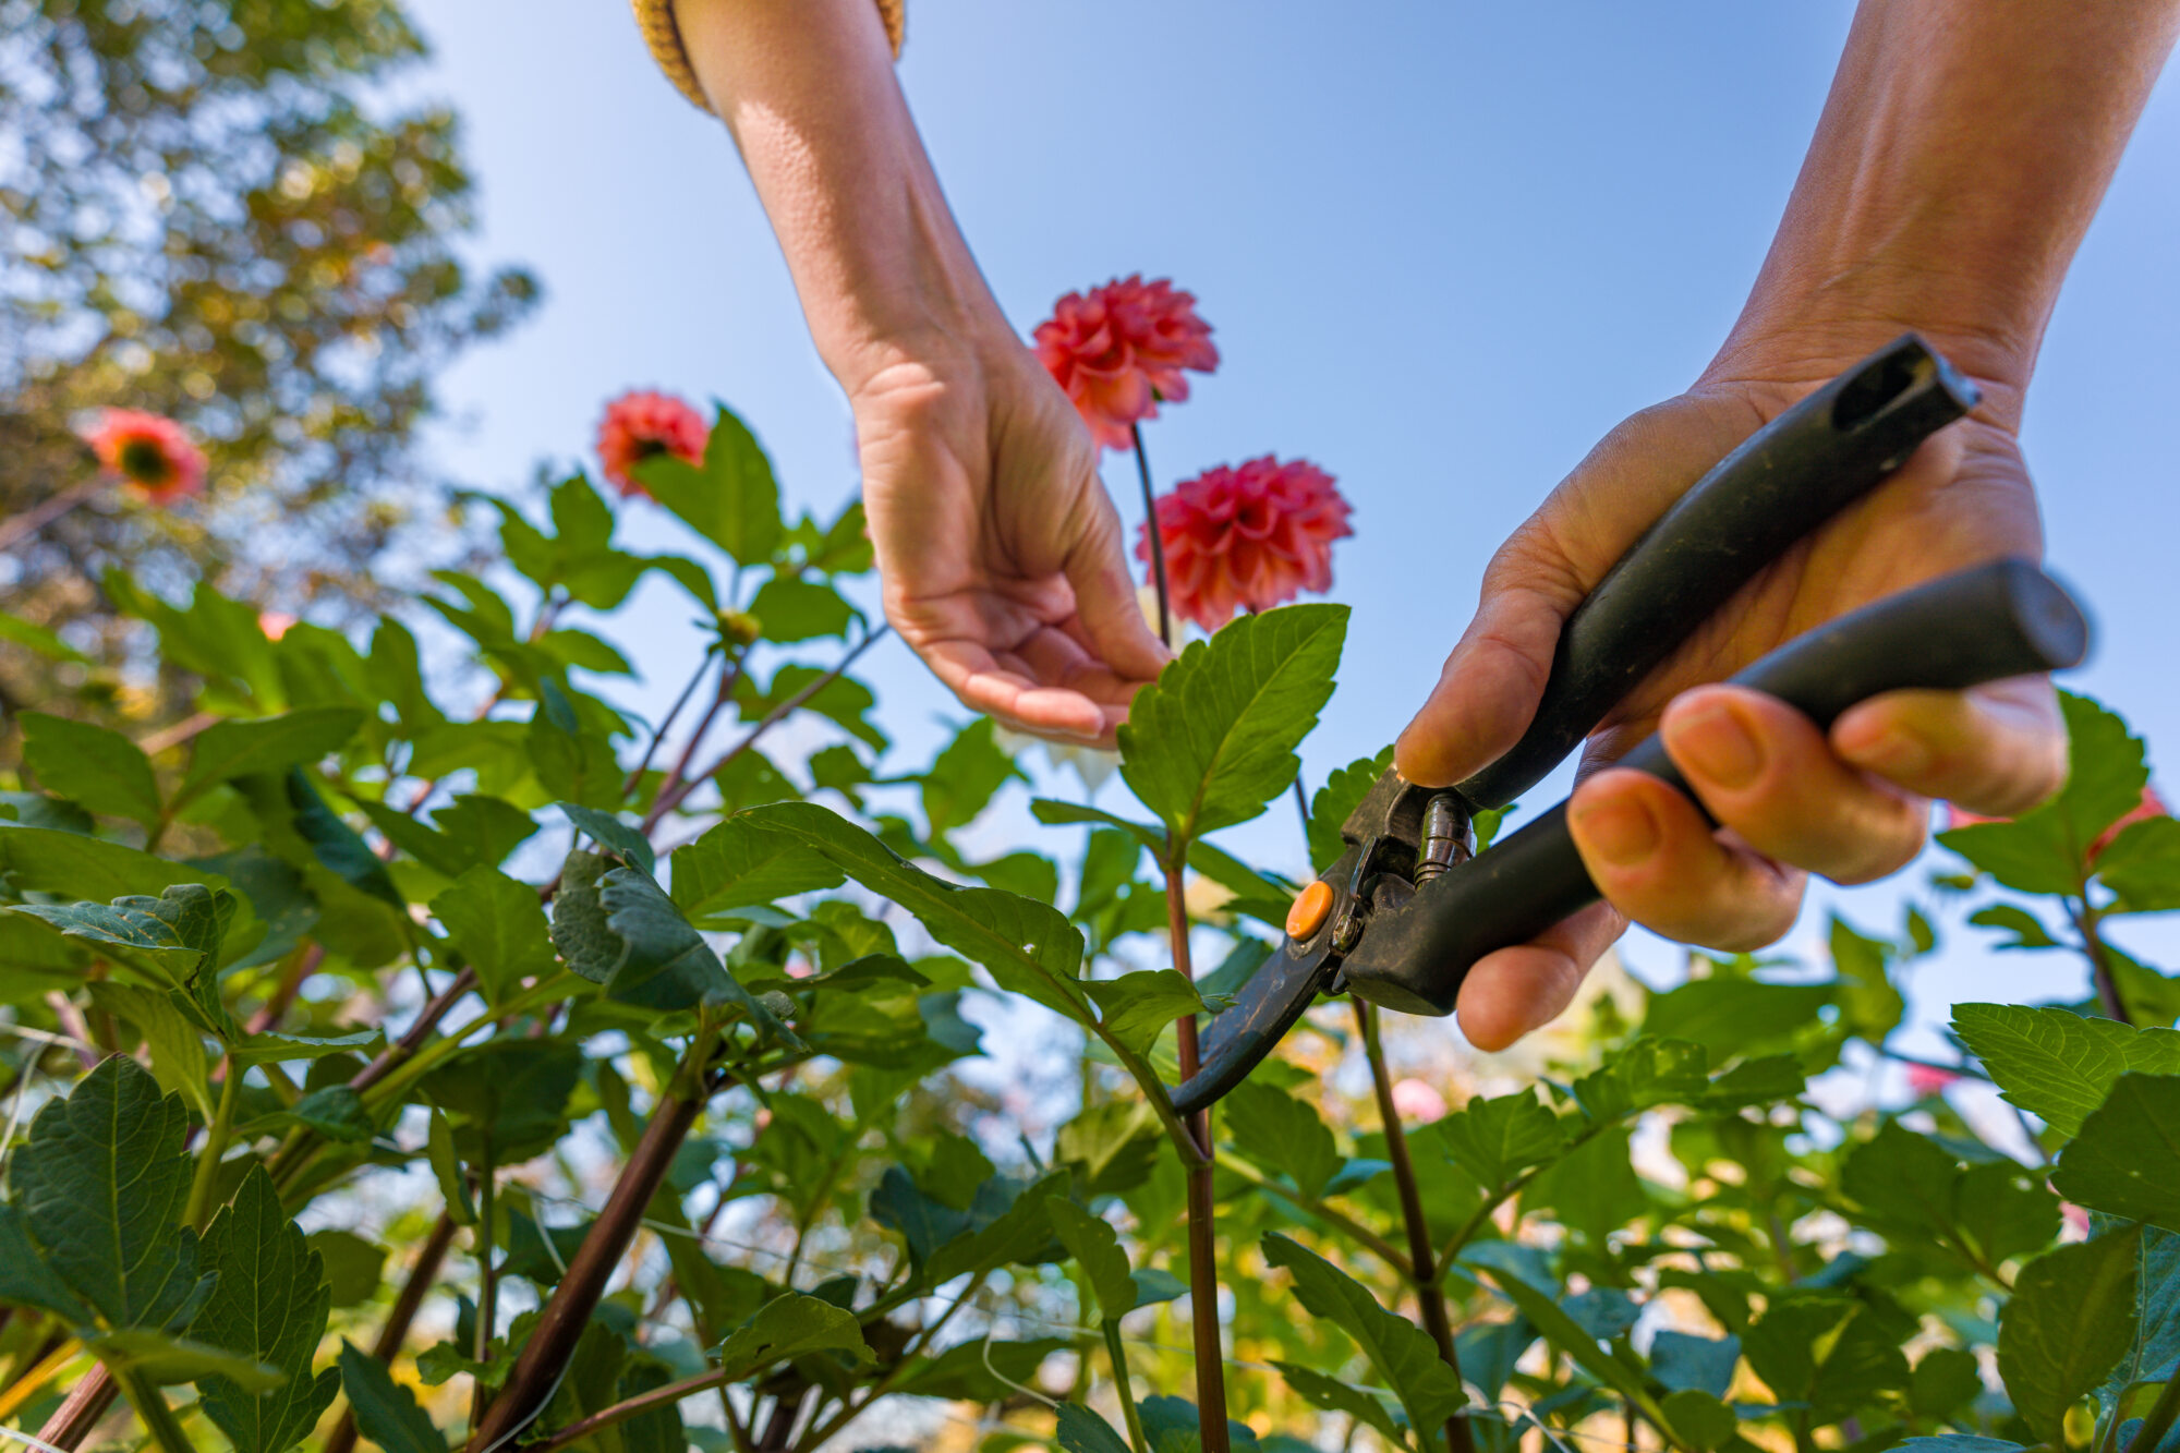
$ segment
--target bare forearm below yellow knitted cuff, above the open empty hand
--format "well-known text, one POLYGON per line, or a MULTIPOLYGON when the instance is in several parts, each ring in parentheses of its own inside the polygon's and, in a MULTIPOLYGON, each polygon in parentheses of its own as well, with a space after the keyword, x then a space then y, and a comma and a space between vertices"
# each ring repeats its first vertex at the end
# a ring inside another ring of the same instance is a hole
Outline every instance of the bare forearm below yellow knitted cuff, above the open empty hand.
POLYGON ((870 0, 678 0, 676 22, 850 393, 916 340, 1005 332, 870 0))

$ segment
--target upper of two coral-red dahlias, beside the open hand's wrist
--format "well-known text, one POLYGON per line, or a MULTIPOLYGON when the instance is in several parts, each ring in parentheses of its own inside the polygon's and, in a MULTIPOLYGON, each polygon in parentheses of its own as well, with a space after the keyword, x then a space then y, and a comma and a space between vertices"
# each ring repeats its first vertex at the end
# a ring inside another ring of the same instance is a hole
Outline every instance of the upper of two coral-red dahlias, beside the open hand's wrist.
POLYGON ((1219 367, 1219 347, 1192 292, 1136 273, 1053 303, 1053 316, 1038 323, 1038 360, 1099 445, 1125 449, 1129 425, 1155 419, 1160 401, 1188 397, 1184 369, 1219 367))

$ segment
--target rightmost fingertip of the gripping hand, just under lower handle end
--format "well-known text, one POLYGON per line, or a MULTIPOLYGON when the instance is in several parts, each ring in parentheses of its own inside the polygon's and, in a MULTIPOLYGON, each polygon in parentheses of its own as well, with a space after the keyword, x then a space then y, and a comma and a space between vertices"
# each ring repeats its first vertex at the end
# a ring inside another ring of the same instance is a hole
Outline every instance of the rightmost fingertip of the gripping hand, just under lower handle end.
POLYGON ((2012 818, 2067 781, 2067 718, 2049 676, 1971 692, 1888 692, 1831 724, 1842 759, 1969 812, 2012 818))

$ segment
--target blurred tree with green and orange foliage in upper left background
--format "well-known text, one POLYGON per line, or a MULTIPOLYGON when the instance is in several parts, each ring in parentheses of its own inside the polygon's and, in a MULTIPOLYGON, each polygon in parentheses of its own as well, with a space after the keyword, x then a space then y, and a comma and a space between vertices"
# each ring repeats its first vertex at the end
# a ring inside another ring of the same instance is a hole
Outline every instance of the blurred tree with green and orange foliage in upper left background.
MULTIPOLYGON (((17 543, 7 611, 111 668, 107 567, 358 611, 403 524, 443 515, 414 449, 434 373, 536 284, 462 266, 456 118, 386 87, 423 55, 395 0, 0 0, 0 519, 92 471, 72 428, 100 406, 211 456, 203 500, 105 491, 17 543)), ((13 703, 57 687, 111 676, 0 644, 13 703)))

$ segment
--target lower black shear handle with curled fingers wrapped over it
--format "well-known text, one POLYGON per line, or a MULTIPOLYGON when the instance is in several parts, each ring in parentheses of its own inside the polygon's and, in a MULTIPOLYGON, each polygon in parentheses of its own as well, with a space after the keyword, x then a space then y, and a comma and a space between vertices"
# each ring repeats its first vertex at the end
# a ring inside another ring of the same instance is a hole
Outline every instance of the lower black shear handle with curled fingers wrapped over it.
MULTIPOLYGON (((1855 703, 1910 687, 1966 689, 2064 670, 2088 650, 2088 622, 2034 565, 1999 561, 1868 604, 1788 641, 1735 685, 1770 692, 1820 726, 1855 703)), ((1687 788, 1657 737, 1622 766, 1687 788)), ((1378 912, 1343 975, 1356 995, 1408 1014, 1450 1014, 1469 964, 1528 942, 1598 899, 1561 803, 1480 857, 1378 912)))

